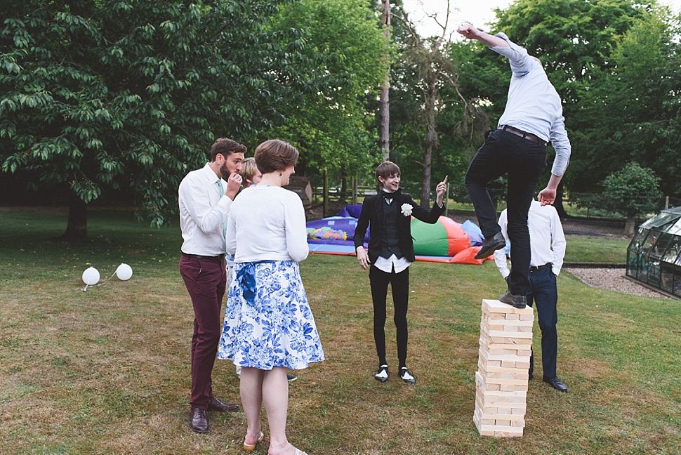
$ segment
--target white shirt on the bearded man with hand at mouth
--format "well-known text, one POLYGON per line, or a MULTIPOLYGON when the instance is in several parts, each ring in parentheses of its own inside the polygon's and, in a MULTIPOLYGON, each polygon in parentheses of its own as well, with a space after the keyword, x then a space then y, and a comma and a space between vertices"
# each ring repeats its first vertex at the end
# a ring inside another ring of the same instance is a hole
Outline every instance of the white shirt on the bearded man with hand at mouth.
POLYGON ((225 254, 223 223, 230 212, 232 199, 220 191, 218 180, 227 188, 206 163, 183 178, 178 190, 182 251, 201 256, 225 254))

